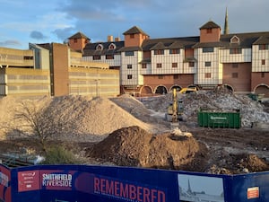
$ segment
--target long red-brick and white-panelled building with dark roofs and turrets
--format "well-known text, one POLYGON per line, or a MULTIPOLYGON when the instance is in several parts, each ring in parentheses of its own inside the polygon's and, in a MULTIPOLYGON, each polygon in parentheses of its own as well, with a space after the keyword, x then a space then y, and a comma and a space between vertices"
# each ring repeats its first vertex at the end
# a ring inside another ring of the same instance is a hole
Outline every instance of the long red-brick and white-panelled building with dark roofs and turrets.
POLYGON ((223 85, 233 92, 269 97, 269 31, 229 33, 226 16, 223 34, 212 21, 201 26, 196 37, 150 39, 136 26, 123 34, 125 40, 110 38, 82 48, 85 60, 120 70, 121 93, 140 96, 223 85))

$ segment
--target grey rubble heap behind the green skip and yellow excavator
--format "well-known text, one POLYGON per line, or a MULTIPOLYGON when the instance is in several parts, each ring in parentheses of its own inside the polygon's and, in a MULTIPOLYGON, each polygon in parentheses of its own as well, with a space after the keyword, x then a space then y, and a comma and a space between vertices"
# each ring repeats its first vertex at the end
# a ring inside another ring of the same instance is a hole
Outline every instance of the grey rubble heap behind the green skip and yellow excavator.
MULTIPOLYGON (((230 112, 239 110, 242 127, 252 127, 255 122, 269 123, 269 113, 258 101, 253 101, 247 95, 234 94, 224 90, 198 91, 188 94, 178 94, 184 101, 184 118, 186 121, 197 122, 199 110, 230 112)), ((171 93, 161 98, 149 98, 143 104, 152 110, 166 112, 171 102, 171 93)))

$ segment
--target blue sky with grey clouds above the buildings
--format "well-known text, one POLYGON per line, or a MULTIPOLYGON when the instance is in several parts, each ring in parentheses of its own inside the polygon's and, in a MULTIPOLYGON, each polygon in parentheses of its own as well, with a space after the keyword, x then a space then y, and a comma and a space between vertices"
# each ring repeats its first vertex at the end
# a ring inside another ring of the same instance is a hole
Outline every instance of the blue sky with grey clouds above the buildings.
POLYGON ((230 33, 269 31, 268 0, 0 0, 0 47, 63 43, 81 31, 91 42, 138 26, 151 39, 199 36, 208 21, 230 33))

